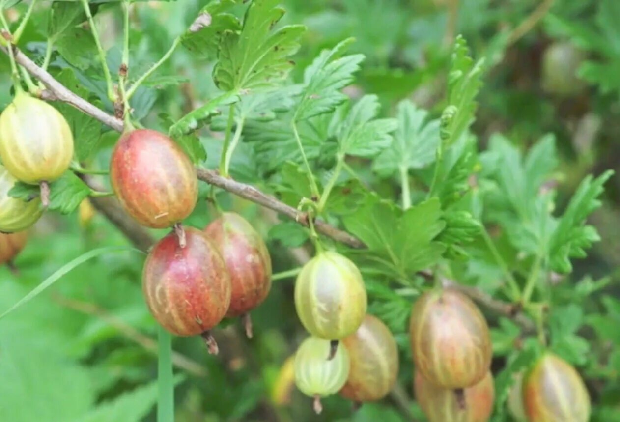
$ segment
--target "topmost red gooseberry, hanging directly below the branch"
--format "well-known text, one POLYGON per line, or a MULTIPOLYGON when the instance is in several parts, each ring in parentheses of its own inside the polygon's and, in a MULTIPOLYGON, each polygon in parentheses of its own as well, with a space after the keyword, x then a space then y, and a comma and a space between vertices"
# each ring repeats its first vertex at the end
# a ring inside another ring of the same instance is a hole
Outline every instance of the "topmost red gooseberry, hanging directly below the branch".
POLYGON ((192 162, 172 139, 154 130, 123 133, 112 152, 110 180, 127 213, 153 229, 187 218, 198 200, 192 162))

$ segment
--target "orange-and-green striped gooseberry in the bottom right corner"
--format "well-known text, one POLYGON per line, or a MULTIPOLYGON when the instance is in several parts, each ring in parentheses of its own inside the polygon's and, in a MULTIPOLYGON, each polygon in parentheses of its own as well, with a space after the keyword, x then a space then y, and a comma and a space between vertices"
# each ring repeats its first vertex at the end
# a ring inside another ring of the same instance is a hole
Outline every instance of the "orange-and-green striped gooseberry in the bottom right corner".
POLYGON ((590 396, 574 367, 545 353, 523 380, 523 402, 529 422, 587 422, 590 396))

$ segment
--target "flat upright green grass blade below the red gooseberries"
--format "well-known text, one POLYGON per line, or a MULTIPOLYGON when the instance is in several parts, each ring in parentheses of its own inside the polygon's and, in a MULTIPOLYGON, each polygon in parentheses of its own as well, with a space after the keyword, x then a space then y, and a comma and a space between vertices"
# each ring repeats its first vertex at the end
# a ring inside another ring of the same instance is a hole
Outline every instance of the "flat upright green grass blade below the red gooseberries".
POLYGON ((157 354, 157 422, 174 422, 174 384, 172 382, 172 336, 159 327, 157 354))

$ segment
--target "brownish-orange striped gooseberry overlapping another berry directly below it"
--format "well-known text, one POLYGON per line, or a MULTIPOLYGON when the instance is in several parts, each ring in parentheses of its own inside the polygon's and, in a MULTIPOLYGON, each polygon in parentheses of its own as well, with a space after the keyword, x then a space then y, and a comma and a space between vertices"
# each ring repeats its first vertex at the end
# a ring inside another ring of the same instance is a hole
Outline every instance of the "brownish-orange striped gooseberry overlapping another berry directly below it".
POLYGON ((474 302, 458 291, 433 290, 420 296, 409 335, 415 366, 435 385, 464 389, 489 370, 489 326, 474 302))

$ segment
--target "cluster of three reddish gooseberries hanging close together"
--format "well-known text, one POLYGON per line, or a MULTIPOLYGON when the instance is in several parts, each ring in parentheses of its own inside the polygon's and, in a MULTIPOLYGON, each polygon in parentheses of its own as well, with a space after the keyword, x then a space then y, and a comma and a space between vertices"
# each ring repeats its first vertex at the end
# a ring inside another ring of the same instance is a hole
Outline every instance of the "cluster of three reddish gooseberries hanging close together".
POLYGON ((244 218, 222 213, 205 229, 182 227, 198 200, 195 167, 172 139, 128 130, 110 160, 112 188, 128 214, 153 228, 172 227, 149 252, 143 292, 151 314, 178 336, 200 335, 210 353, 210 330, 224 317, 242 317, 265 300, 272 266, 267 246, 244 218))

